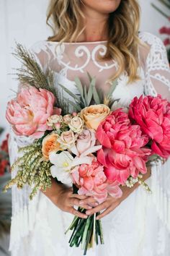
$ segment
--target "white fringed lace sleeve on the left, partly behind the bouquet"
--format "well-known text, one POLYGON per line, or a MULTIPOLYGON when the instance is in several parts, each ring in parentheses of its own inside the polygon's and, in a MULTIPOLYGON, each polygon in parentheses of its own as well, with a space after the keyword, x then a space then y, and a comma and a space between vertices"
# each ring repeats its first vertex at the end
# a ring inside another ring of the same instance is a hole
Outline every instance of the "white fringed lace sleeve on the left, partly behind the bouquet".
MULTIPOLYGON (((32 54, 35 56, 36 61, 40 64, 42 70, 45 70, 45 51, 42 51, 41 43, 35 43, 29 48, 32 54)), ((22 83, 19 83, 17 91, 22 88, 22 83)), ((30 145, 32 140, 30 137, 17 136, 14 134, 12 127, 10 127, 9 132, 9 158, 10 163, 14 163, 17 160, 19 154, 18 150, 21 147, 30 145)), ((17 169, 12 171, 12 178, 16 176, 17 169)), ((24 255, 24 248, 21 248, 21 239, 27 236, 29 232, 33 229, 35 223, 35 214, 37 209, 37 201, 39 198, 39 193, 35 198, 30 201, 30 187, 24 186, 23 189, 17 189, 17 186, 12 187, 12 223, 11 223, 11 235, 9 250, 12 252, 17 252, 18 250, 23 250, 22 255, 24 255)))

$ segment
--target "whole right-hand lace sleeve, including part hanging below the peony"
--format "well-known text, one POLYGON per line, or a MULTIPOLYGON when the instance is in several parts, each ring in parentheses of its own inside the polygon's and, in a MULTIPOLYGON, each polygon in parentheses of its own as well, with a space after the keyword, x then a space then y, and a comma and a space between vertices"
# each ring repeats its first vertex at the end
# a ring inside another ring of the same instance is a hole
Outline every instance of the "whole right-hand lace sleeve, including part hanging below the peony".
MULTIPOLYGON (((144 42, 150 46, 145 64, 145 94, 161 94, 170 101, 170 69, 166 48, 155 35, 144 33, 144 42)), ((170 234, 170 159, 152 167, 151 190, 159 218, 170 234)))

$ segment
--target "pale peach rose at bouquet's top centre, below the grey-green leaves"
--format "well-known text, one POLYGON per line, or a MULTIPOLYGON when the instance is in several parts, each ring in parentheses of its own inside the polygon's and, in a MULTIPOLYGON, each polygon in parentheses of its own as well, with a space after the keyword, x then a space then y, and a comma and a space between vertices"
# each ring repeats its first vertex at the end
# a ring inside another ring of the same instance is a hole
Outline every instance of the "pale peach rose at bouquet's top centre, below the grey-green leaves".
POLYGON ((109 112, 109 107, 104 104, 91 105, 81 110, 81 118, 84 119, 86 127, 96 130, 109 112))

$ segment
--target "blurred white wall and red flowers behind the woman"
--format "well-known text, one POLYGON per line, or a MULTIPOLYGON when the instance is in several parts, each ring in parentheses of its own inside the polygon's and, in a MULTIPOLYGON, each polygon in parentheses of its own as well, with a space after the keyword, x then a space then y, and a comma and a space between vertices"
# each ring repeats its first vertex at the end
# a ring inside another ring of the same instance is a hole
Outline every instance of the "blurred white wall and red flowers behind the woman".
MULTIPOLYGON (((38 40, 46 40, 51 35, 46 25, 46 10, 49 0, 0 0, 0 189, 9 179, 9 160, 6 134, 8 127, 5 119, 6 103, 14 91, 17 81, 12 68, 19 67, 14 59, 15 40, 27 48, 38 40)), ((160 37, 169 51, 170 45, 170 0, 140 0, 140 30, 160 37)), ((11 218, 11 192, 0 191, 0 256, 9 255, 9 229, 11 218)), ((24 256, 24 255, 23 255, 24 256)))

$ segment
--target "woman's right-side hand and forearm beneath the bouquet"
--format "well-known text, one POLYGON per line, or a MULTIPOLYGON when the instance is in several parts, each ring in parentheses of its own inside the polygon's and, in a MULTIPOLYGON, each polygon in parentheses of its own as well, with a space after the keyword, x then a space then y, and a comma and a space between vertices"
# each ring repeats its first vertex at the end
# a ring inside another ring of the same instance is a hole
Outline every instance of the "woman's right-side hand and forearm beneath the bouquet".
MULTIPOLYGON (((151 176, 151 167, 148 167, 147 174, 143 175, 143 181, 148 179, 150 176, 151 176)), ((107 200, 102 202, 102 204, 98 205, 97 207, 92 208, 91 210, 86 210, 86 214, 89 216, 89 215, 92 215, 94 213, 98 213, 101 210, 104 210, 101 214, 99 214, 99 216, 97 216, 97 220, 103 218, 107 214, 111 213, 112 210, 115 210, 115 208, 117 208, 117 206, 120 205, 120 203, 123 200, 125 200, 138 186, 139 186, 139 184, 136 183, 131 188, 129 188, 129 187, 122 187, 121 188, 122 189, 122 197, 115 198, 115 197, 112 197, 111 195, 108 195, 107 196, 107 200)), ((86 204, 86 199, 81 200, 80 203, 86 204)))

